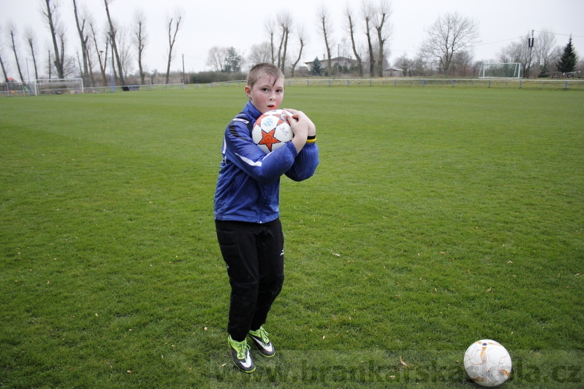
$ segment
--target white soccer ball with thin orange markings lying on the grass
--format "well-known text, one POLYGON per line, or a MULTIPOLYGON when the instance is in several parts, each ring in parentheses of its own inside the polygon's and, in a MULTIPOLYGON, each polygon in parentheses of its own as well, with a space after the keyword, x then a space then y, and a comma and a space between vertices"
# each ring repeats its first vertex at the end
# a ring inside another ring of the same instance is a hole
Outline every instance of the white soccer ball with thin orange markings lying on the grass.
POLYGON ((499 386, 511 374, 511 357, 498 342, 483 339, 464 353, 464 369, 480 386, 499 386))

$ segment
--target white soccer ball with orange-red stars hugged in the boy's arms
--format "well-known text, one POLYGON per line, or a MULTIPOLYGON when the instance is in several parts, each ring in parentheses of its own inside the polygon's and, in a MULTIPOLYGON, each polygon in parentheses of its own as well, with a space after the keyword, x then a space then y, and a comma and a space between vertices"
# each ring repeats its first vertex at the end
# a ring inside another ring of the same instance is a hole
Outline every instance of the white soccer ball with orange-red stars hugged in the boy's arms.
POLYGON ((253 143, 263 152, 270 153, 291 141, 294 134, 290 122, 283 116, 292 116, 285 110, 272 110, 260 115, 252 129, 253 143))

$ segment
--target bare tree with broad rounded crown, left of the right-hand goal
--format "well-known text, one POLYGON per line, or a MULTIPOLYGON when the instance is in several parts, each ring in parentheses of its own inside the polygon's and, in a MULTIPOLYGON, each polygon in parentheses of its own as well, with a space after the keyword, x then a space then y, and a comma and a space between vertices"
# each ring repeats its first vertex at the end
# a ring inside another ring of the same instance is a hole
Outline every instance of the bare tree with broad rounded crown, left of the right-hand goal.
POLYGON ((477 43, 478 22, 457 12, 446 13, 439 16, 426 33, 420 52, 427 58, 437 59, 444 74, 448 74, 456 52, 477 43))

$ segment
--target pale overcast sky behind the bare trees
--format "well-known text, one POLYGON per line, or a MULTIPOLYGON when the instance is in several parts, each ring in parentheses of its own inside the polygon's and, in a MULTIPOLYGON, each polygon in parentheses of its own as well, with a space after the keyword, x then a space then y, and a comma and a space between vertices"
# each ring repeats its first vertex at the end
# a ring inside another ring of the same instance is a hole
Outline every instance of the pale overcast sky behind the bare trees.
MULTIPOLYGON (((55 1, 55 0, 53 0, 55 1)), ((75 55, 79 50, 79 38, 72 10, 72 0, 59 0, 59 13, 67 31, 66 51, 75 55)), ((376 0, 371 0, 375 2, 376 0)), ((103 0, 77 0, 78 6, 84 5, 96 20, 100 31, 105 30, 106 13, 103 0)), ((46 20, 39 12, 44 0, 0 0, 0 53, 8 65, 9 76, 18 78, 11 44, 9 44, 6 26, 12 21, 19 34, 16 41, 20 65, 26 76, 26 58, 32 66, 30 51, 22 38, 27 26, 36 34, 37 62, 42 62, 39 73, 46 73, 47 48, 53 51, 50 32, 46 20), (38 58, 40 57, 40 58, 38 58)), ((316 10, 321 0, 293 0, 274 2, 269 0, 221 0, 221 1, 186 1, 186 0, 114 0, 110 4, 110 15, 121 24, 130 25, 135 10, 141 8, 146 16, 146 29, 149 43, 145 48, 145 68, 166 71, 168 52, 168 33, 165 30, 166 15, 172 14, 176 7, 185 12, 183 26, 176 37, 173 48, 175 59, 172 70, 182 69, 182 55, 185 58, 185 70, 210 70, 206 66, 208 50, 217 45, 235 47, 245 55, 253 44, 267 40, 265 21, 275 17, 281 10, 288 10, 295 23, 304 23, 309 33, 309 43, 305 47, 301 62, 312 61, 326 52, 324 42, 316 26, 316 10)), ((333 41, 336 57, 342 38, 347 34, 344 29, 342 8, 343 0, 324 0, 324 5, 331 12, 333 23, 333 41)), ((350 0, 349 4, 358 9, 361 0, 350 0)), ((460 15, 474 17, 479 22, 481 43, 474 48, 475 59, 496 58, 497 52, 513 39, 525 36, 529 31, 551 29, 556 33, 558 45, 568 43, 572 34, 572 43, 580 55, 584 55, 584 1, 583 0, 394 0, 393 13, 390 17, 392 35, 389 43, 390 62, 401 55, 414 57, 426 34, 424 29, 436 18, 446 12, 458 12, 460 15)), ((357 38, 363 41, 364 34, 359 29, 357 38)), ((291 39, 288 55, 297 55, 297 42, 291 39)), ((537 41, 536 41, 537 44, 537 41)), ((342 48, 340 48, 342 53, 342 48)), ((352 53, 351 53, 352 54, 352 53)), ((137 65, 134 69, 137 69, 137 65)))

